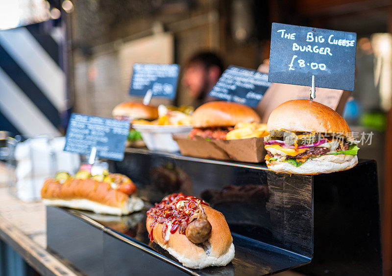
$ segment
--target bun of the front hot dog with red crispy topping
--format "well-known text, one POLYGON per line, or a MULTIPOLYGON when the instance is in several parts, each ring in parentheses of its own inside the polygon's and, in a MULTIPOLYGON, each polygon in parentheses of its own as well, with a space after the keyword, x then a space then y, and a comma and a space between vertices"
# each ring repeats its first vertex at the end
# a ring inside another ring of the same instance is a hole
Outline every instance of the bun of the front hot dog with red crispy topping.
MULTIPOLYGON (((154 242, 166 249, 184 266, 201 269, 207 266, 224 266, 234 258, 234 245, 223 214, 211 207, 202 207, 212 230, 211 236, 202 244, 192 243, 186 235, 176 231, 170 234, 167 244, 162 237, 163 224, 156 224, 153 230, 154 242)), ((146 226, 150 233, 152 219, 147 217, 146 226)))

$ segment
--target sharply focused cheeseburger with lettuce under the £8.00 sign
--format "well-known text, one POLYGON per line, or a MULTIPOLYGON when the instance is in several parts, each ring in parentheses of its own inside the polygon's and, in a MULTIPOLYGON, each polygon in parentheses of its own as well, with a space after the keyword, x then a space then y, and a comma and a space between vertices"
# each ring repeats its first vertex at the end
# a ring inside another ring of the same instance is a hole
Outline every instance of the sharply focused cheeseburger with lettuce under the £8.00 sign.
POLYGON ((358 141, 346 121, 318 102, 291 100, 279 105, 270 114, 267 130, 265 160, 272 171, 313 175, 358 163, 358 141))

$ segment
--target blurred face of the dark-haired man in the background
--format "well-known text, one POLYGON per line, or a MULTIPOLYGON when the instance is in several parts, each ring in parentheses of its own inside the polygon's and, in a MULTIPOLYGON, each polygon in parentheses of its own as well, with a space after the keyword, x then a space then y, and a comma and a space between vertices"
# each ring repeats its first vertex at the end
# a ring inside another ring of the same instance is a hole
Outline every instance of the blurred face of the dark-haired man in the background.
POLYGON ((184 76, 182 77, 182 83, 188 88, 190 96, 194 99, 200 97, 204 92, 207 82, 207 71, 203 64, 195 63, 189 65, 185 69, 184 76))

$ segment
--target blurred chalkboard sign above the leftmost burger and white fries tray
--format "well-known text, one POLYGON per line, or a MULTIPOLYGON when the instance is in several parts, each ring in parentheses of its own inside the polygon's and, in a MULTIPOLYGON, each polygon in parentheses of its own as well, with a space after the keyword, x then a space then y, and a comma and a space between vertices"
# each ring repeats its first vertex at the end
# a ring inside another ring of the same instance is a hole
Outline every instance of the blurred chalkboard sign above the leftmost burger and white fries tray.
POLYGON ((177 64, 135 63, 129 94, 144 96, 151 90, 153 97, 174 99, 179 71, 177 64))

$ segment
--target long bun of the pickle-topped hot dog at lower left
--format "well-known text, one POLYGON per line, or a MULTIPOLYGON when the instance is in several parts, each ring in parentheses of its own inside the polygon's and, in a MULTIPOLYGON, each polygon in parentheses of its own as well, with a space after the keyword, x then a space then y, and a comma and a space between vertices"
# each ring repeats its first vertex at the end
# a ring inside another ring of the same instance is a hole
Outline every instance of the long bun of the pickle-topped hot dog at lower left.
POLYGON ((110 184, 92 179, 67 179, 64 183, 48 179, 41 189, 45 205, 90 210, 96 213, 125 215, 143 208, 143 201, 110 184))

